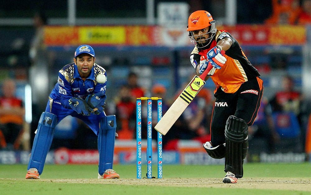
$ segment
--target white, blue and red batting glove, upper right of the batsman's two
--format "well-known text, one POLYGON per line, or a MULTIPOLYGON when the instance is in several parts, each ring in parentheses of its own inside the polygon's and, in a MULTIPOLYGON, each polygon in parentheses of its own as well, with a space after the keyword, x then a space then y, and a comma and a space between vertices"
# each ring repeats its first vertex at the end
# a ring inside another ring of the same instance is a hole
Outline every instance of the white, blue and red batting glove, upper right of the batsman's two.
POLYGON ((223 54, 225 54, 225 51, 215 46, 207 52, 206 57, 213 67, 220 69, 227 61, 223 54))

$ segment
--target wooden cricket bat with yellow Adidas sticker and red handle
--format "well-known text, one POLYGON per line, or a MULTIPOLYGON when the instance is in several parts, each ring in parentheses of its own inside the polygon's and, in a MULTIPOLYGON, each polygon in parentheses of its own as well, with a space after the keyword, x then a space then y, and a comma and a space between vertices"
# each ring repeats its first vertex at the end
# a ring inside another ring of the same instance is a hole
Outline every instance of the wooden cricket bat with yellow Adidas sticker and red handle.
POLYGON ((158 132, 160 132, 162 135, 165 135, 169 131, 179 116, 183 114, 183 111, 186 110, 190 102, 203 88, 206 83, 205 77, 212 68, 212 66, 207 67, 207 69, 200 76, 196 75, 193 77, 187 87, 183 90, 172 106, 169 107, 160 121, 156 124, 155 129, 158 132))

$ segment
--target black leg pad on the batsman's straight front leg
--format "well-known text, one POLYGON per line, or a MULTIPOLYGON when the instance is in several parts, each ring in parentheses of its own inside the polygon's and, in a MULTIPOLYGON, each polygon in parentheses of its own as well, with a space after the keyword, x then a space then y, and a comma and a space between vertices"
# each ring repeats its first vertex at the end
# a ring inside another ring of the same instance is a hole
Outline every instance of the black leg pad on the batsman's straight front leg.
POLYGON ((243 162, 248 151, 248 125, 235 116, 229 116, 225 127, 226 155, 225 172, 243 177, 243 162))

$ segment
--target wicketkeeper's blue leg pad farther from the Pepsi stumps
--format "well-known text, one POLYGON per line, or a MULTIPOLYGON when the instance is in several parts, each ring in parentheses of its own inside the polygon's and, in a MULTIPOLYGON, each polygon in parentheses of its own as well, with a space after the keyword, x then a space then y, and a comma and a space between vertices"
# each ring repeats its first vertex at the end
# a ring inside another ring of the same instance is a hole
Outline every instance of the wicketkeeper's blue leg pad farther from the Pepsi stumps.
POLYGON ((56 115, 49 112, 43 112, 41 114, 34 144, 31 150, 28 170, 30 168, 36 168, 41 175, 46 155, 48 154, 52 144, 56 124, 56 115))

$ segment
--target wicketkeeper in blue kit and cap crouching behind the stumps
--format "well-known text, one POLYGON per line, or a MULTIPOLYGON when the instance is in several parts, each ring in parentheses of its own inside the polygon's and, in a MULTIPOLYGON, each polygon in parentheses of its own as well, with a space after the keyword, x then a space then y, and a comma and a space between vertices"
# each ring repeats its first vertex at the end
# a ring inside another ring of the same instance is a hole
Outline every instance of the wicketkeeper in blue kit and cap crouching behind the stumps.
POLYGON ((54 128, 68 115, 81 119, 98 135, 98 178, 120 178, 112 169, 116 118, 115 115, 106 116, 103 108, 107 73, 95 63, 95 52, 89 45, 79 46, 73 61, 59 70, 58 82, 40 117, 26 179, 40 178, 54 128))

